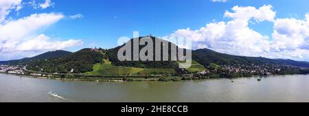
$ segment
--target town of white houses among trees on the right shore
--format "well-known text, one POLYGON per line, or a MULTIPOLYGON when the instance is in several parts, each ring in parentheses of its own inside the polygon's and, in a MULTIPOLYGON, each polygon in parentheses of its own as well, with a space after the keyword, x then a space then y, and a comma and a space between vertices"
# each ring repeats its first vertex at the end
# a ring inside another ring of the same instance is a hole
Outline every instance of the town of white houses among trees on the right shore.
POLYGON ((284 74, 309 74, 309 68, 288 65, 223 65, 218 69, 210 69, 209 71, 198 72, 194 74, 196 77, 209 78, 233 78, 233 77, 250 77, 250 76, 269 76, 284 74))

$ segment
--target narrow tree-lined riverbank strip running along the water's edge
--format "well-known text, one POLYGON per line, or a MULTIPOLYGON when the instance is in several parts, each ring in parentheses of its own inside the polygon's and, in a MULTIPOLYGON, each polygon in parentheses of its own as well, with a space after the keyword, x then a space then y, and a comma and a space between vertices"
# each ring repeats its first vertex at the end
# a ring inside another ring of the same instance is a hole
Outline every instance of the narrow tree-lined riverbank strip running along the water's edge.
MULTIPOLYGON (((246 74, 238 72, 209 72, 207 74, 183 74, 182 76, 168 76, 168 75, 100 75, 100 74, 85 74, 85 73, 47 73, 37 72, 33 70, 27 70, 26 66, 19 66, 19 71, 0 72, 4 74, 15 74, 17 76, 30 76, 32 78, 53 79, 62 81, 98 81, 98 82, 131 82, 131 81, 191 81, 191 80, 203 80, 208 78, 237 78, 237 77, 262 77, 262 76, 275 76, 275 75, 290 75, 295 73, 286 72, 273 72, 272 74, 246 74), (16 73, 14 73, 16 72, 16 73)), ((307 72, 309 73, 309 72, 307 72)))

